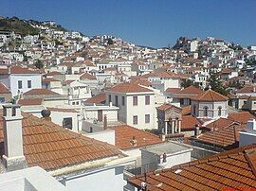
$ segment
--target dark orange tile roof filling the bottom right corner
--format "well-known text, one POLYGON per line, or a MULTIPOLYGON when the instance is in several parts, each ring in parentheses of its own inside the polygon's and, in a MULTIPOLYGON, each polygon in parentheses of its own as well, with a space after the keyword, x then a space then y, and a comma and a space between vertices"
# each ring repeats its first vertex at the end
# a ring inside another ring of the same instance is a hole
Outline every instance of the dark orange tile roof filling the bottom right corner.
POLYGON ((130 178, 129 183, 148 191, 170 190, 256 190, 256 145, 156 170, 130 178))

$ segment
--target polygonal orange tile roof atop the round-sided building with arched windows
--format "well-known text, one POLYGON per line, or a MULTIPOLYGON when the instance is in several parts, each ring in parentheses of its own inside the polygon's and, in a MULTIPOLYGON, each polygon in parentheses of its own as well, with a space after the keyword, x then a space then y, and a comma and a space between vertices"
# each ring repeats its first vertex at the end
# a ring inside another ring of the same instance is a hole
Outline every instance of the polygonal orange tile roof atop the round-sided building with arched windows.
POLYGON ((192 97, 192 100, 197 101, 227 101, 229 98, 227 96, 223 96, 219 93, 216 93, 213 90, 208 90, 199 94, 198 96, 192 97))

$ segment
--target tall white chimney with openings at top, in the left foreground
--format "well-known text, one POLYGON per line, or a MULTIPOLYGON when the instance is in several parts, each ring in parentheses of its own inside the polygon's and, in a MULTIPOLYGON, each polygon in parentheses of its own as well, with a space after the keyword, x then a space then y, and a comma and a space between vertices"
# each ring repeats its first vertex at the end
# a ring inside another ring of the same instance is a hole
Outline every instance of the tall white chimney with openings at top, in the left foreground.
POLYGON ((7 171, 27 167, 23 152, 22 119, 20 105, 3 106, 4 148, 3 163, 7 171))

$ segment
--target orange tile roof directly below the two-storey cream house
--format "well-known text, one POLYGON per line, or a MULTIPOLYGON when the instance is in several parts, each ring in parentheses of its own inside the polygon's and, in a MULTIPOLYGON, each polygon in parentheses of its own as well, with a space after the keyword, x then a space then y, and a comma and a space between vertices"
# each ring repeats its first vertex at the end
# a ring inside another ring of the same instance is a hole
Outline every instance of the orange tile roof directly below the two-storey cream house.
POLYGON ((109 127, 116 132, 116 147, 120 149, 141 148, 149 145, 162 143, 162 140, 155 134, 144 130, 137 130, 128 125, 109 127), (137 146, 133 147, 133 137, 137 140, 137 146))

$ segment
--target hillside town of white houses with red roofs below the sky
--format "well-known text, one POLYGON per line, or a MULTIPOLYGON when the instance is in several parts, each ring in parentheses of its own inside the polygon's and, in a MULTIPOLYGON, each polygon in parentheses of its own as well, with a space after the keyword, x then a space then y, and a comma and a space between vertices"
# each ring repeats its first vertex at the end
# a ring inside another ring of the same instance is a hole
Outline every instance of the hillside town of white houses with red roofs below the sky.
POLYGON ((33 29, 0 30, 4 190, 256 190, 256 44, 8 22, 33 29))

